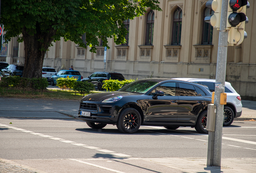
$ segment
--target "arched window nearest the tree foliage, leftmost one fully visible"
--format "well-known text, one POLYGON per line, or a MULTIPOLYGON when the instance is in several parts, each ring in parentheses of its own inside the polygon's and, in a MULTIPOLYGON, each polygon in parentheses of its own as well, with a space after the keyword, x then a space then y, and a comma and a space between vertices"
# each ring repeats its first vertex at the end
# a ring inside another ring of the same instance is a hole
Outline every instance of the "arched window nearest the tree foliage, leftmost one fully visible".
POLYGON ((154 20, 155 20, 155 13, 153 10, 148 12, 147 15, 147 31, 146 31, 146 44, 152 45, 153 44, 153 33, 154 33, 154 20))

